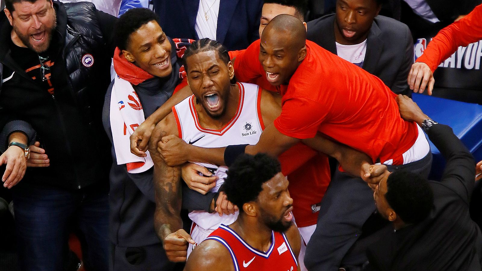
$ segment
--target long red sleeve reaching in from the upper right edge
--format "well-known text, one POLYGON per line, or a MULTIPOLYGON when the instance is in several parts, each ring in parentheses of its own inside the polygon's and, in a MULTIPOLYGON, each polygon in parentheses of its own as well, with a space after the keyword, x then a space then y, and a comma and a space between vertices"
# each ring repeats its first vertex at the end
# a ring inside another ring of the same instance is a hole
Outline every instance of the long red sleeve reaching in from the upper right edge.
POLYGON ((459 46, 482 39, 482 5, 478 5, 467 16, 443 28, 428 43, 427 49, 415 62, 423 62, 433 71, 457 50, 459 46))

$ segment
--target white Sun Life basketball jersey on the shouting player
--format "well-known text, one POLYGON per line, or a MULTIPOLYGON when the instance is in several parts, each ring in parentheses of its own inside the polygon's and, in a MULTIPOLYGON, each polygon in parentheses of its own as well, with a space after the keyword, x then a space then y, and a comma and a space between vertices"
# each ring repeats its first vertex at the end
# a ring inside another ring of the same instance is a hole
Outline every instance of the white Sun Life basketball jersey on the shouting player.
MULTIPOLYGON (((240 89, 238 110, 233 119, 221 130, 201 127, 194 104, 194 95, 187 97, 173 107, 174 118, 177 123, 179 137, 188 144, 203 148, 220 148, 229 145, 250 144, 255 145, 263 129, 261 118, 261 90, 257 85, 249 83, 237 83, 240 89)), ((211 190, 217 192, 224 183, 228 167, 210 163, 197 163, 206 167, 219 179, 216 186, 211 190)), ((189 218, 205 230, 215 230, 220 224, 230 225, 238 217, 235 215, 209 214, 204 211, 193 211, 189 218)))

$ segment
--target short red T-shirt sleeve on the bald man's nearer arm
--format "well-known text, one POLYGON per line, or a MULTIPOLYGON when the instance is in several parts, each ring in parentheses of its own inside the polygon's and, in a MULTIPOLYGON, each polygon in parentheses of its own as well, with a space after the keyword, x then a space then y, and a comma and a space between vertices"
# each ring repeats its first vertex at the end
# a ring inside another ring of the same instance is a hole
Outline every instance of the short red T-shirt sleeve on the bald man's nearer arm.
POLYGON ((316 136, 327 114, 326 108, 321 103, 295 96, 283 101, 281 115, 274 121, 274 126, 286 136, 299 139, 312 138, 316 136))

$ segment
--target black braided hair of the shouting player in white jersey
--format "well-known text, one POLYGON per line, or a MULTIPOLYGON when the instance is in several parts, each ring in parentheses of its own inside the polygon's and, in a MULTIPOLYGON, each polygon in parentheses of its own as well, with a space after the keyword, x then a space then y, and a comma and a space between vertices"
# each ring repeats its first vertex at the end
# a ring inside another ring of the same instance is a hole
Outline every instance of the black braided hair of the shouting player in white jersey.
MULTIPOLYGON (((183 59, 183 64, 184 64, 184 69, 187 72, 187 57, 193 55, 193 54, 198 54, 201 52, 207 52, 207 51, 215 51, 217 52, 217 55, 219 58, 228 65, 229 61, 231 61, 231 58, 229 57, 228 54, 228 49, 221 44, 219 41, 213 41, 210 40, 209 38, 204 38, 201 40, 194 41, 191 43, 189 46, 186 48, 186 52, 184 52, 184 56, 182 57, 183 59)), ((231 84, 236 83, 236 78, 233 77, 231 79, 231 84)))

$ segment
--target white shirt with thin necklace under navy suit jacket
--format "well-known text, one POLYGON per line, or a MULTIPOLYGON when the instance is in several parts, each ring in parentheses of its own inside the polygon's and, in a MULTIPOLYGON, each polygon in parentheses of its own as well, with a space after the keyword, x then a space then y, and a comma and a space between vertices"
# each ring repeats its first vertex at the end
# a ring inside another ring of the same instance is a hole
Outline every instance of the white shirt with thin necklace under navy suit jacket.
POLYGON ((217 16, 219 14, 219 2, 221 0, 200 0, 198 14, 196 16, 196 24, 194 29, 198 33, 199 39, 209 38, 216 40, 217 16), (204 6, 204 10, 202 7, 204 6), (212 7, 211 7, 212 6, 212 7), (209 9, 211 7, 211 9, 209 9), (209 9, 209 11, 208 11, 209 9), (204 11, 208 15, 206 20, 204 11))

